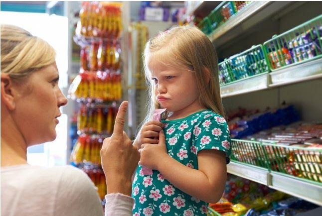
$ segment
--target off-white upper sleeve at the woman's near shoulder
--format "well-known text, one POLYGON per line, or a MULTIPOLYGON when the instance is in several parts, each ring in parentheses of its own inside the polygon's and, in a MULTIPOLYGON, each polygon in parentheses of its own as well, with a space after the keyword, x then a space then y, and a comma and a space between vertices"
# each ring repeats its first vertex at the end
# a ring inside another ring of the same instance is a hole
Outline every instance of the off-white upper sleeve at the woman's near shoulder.
POLYGON ((103 206, 90 178, 67 166, 56 193, 54 216, 103 216, 103 206))

